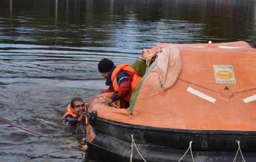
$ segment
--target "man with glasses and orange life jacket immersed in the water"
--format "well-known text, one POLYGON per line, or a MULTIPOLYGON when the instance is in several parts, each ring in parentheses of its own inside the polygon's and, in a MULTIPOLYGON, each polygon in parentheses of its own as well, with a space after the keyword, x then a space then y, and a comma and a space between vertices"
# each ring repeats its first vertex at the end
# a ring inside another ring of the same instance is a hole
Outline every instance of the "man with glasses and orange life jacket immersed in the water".
POLYGON ((83 99, 79 97, 71 99, 67 107, 68 112, 61 119, 65 120, 67 125, 76 127, 78 123, 85 122, 86 106, 87 103, 84 103, 83 99))

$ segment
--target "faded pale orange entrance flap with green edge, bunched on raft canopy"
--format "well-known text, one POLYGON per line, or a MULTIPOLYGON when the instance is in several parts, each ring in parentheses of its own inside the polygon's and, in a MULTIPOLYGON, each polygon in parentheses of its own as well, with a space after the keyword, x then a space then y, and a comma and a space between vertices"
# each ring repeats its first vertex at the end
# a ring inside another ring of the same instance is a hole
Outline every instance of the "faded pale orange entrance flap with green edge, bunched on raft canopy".
POLYGON ((157 50, 155 53, 151 55, 146 50, 143 50, 141 53, 141 58, 147 60, 148 66, 150 61, 152 62, 152 60, 154 60, 154 62, 151 63, 150 67, 146 71, 146 74, 143 76, 141 82, 138 84, 137 88, 135 88, 135 91, 131 96, 131 99, 130 99, 131 113, 133 111, 134 103, 137 99, 142 83, 155 67, 158 73, 158 76, 155 77, 156 79, 158 79, 156 80, 156 82, 159 82, 159 85, 160 85, 159 90, 162 92, 169 90, 174 85, 182 69, 180 51, 174 45, 162 46, 159 50, 157 50))

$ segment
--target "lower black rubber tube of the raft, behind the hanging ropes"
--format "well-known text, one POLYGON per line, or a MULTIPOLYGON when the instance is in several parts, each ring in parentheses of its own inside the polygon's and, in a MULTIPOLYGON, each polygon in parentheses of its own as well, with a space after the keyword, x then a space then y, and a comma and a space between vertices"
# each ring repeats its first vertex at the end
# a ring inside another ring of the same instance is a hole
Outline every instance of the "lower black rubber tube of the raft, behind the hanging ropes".
MULTIPOLYGON (((123 141, 116 139, 113 136, 109 136, 103 133, 98 133, 92 142, 86 141, 90 151, 97 153, 98 156, 111 161, 129 161, 131 153, 131 141, 123 141)), ((142 153, 142 156, 150 162, 177 162, 185 153, 188 145, 184 149, 172 149, 168 147, 154 147, 150 144, 139 144, 137 147, 142 153)), ((215 162, 230 162, 234 159, 236 150, 230 151, 200 151, 193 148, 193 155, 195 161, 212 161, 215 162)), ((255 152, 244 152, 243 156, 246 161, 255 161, 255 152)), ((142 161, 137 150, 133 148, 133 161, 142 161)), ((182 160, 191 162, 190 153, 187 153, 186 157, 182 160)), ((242 161, 240 156, 236 161, 242 161)))

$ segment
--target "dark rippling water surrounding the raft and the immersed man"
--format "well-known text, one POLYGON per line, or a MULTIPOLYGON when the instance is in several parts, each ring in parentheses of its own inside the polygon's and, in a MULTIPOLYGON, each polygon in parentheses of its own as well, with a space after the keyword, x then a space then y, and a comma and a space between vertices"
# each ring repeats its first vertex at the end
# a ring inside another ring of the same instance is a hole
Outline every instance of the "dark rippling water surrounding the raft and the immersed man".
POLYGON ((131 63, 157 43, 245 40, 256 47, 256 1, 1 0, 0 161, 101 161, 83 131, 61 124, 70 98, 105 88, 97 63, 131 63))

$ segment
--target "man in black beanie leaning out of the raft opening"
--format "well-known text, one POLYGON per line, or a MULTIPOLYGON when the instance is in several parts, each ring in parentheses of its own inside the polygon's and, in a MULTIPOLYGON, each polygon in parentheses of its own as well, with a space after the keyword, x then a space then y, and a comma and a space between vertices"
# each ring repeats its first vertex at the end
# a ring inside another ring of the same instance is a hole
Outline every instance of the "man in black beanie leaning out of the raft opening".
POLYGON ((98 63, 98 69, 101 75, 107 79, 106 85, 109 86, 101 93, 114 92, 110 98, 101 98, 99 102, 108 104, 123 99, 129 105, 131 94, 141 80, 136 71, 128 67, 128 63, 115 66, 114 62, 109 59, 102 59, 98 63))

